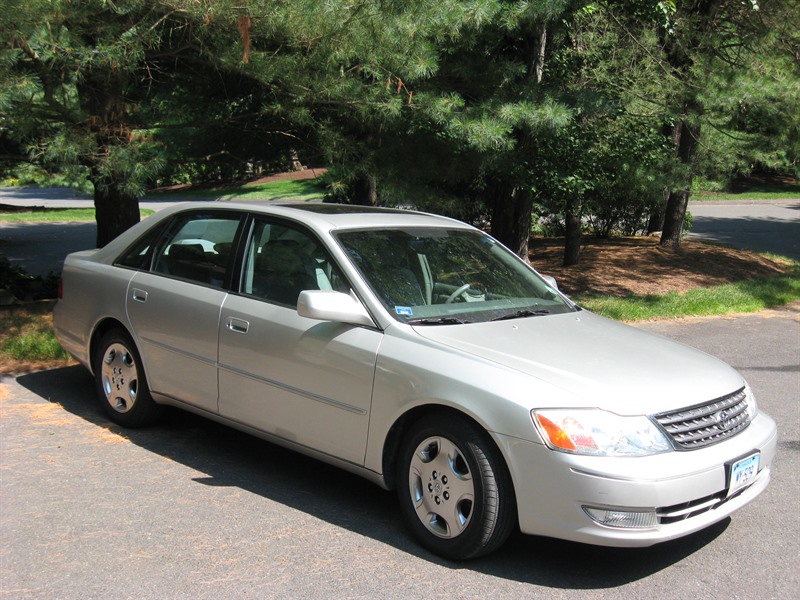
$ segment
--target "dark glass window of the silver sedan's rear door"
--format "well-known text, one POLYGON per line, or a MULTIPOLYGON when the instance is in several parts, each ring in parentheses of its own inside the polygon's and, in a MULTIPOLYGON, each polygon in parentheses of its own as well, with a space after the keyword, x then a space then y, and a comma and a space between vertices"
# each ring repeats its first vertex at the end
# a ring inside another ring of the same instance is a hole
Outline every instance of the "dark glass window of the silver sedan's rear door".
POLYGON ((177 220, 156 248, 153 271, 223 287, 240 222, 237 215, 220 214, 194 214, 177 220))

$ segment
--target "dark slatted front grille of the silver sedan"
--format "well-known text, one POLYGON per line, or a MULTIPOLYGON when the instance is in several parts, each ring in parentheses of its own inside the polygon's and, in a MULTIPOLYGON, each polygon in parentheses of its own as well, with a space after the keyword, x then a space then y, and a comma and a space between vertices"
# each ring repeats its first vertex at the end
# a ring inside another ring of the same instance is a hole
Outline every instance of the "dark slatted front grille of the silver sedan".
POLYGON ((675 443, 688 450, 716 444, 750 424, 744 388, 717 400, 656 415, 655 419, 675 443))

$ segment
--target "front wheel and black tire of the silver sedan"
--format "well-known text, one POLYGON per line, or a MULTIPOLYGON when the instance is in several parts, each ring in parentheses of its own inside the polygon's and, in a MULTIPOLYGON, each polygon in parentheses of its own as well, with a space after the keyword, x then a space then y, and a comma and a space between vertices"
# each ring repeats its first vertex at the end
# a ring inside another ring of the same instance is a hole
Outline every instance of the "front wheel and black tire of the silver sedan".
POLYGON ((416 539, 448 559, 496 550, 516 523, 505 461, 463 417, 436 415, 411 428, 400 449, 397 492, 416 539))

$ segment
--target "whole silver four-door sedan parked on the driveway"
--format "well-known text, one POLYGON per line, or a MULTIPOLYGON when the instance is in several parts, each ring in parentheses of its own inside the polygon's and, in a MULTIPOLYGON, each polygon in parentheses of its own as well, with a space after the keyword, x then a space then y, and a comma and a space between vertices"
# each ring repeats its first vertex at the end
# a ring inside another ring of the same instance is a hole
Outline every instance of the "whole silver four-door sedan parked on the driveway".
POLYGON ((358 473, 451 559, 515 528, 687 535, 758 496, 775 454, 734 369, 582 310, 444 217, 176 206, 71 254, 55 323, 112 421, 175 406, 358 473))

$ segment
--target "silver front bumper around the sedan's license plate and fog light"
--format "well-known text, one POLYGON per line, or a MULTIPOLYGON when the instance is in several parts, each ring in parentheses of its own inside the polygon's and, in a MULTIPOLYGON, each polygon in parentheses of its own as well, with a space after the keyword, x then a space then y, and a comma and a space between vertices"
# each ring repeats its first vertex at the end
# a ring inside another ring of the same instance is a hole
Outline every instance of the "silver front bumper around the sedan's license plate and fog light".
POLYGON ((716 523, 766 489, 775 456, 775 422, 759 413, 740 434, 706 448, 647 457, 592 457, 556 452, 503 435, 495 441, 514 481, 523 533, 602 546, 650 546, 716 523), (752 483, 728 496, 732 462, 760 454, 752 483), (601 525, 584 507, 656 513, 651 526, 601 525))

